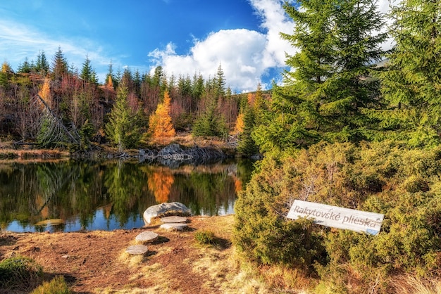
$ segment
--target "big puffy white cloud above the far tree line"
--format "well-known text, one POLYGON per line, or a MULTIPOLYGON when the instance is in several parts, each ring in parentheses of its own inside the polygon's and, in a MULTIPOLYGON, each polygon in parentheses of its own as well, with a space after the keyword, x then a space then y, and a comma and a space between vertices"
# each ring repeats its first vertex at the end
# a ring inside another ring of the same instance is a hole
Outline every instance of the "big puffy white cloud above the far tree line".
MULTIPOLYGON (((171 75, 190 75, 200 72, 205 79, 216 74, 221 65, 228 86, 233 91, 254 91, 269 68, 285 65, 285 51, 293 51, 290 44, 280 39, 279 32, 292 32, 279 0, 250 0, 262 20, 265 33, 236 29, 211 32, 206 39, 194 40, 187 55, 178 55, 169 43, 164 49, 149 53, 155 66, 161 65, 171 75)), ((262 84, 263 88, 269 86, 262 84)))

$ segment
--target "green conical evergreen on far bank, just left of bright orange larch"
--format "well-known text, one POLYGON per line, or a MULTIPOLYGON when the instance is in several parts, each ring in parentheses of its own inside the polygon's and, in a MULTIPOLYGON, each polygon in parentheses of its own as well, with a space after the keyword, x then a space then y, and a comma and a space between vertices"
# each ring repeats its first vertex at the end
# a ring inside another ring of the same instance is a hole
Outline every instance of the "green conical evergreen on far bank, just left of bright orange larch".
POLYGON ((135 147, 141 139, 140 113, 130 110, 128 85, 124 81, 118 87, 115 105, 106 124, 106 134, 120 150, 135 147))

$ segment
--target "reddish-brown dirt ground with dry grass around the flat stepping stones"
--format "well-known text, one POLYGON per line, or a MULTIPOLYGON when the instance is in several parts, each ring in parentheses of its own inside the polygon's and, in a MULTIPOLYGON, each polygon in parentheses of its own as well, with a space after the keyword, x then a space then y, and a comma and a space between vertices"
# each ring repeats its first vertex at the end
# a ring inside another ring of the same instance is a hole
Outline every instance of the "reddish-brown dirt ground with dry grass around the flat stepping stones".
POLYGON ((190 217, 187 231, 165 231, 159 220, 131 230, 72 233, 0 231, 0 260, 31 257, 48 276, 63 275, 74 293, 268 293, 244 274, 231 245, 232 215, 190 217), (145 255, 128 255, 142 231, 159 238, 145 255), (215 245, 200 245, 197 231, 212 231, 215 245))

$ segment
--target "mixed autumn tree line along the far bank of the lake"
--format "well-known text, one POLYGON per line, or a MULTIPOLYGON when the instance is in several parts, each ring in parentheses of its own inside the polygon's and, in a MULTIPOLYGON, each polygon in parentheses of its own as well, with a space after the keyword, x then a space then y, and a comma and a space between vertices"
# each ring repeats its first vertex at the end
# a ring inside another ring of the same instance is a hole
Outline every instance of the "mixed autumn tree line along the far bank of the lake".
POLYGON ((247 96, 225 85, 221 64, 212 78, 204 79, 196 72, 192 77, 167 75, 161 66, 152 74, 115 71, 112 63, 99 84, 88 56, 77 70, 61 48, 51 64, 40 51, 37 61, 26 58, 16 71, 6 61, 2 65, 0 133, 42 148, 74 150, 87 150, 93 142, 136 148, 176 132, 226 140, 247 96))

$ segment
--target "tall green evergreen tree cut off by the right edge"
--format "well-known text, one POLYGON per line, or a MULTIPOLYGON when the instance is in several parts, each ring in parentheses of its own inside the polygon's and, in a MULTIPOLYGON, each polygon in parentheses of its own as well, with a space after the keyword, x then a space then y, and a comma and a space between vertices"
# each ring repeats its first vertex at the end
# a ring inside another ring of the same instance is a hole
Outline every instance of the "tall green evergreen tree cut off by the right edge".
POLYGON ((383 130, 397 129, 414 145, 439 143, 441 1, 402 1, 390 17, 395 47, 381 75, 388 103, 383 130))

